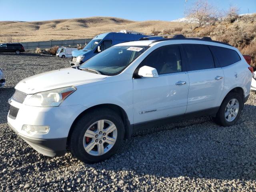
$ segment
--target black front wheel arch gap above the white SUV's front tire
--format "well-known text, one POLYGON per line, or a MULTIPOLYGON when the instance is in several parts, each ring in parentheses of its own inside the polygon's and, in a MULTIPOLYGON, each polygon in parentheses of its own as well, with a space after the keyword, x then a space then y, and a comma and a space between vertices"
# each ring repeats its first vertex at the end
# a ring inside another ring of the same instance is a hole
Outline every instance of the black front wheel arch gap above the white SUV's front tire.
POLYGON ((73 130, 73 127, 75 126, 76 122, 78 121, 78 119, 83 116, 85 113, 88 113, 92 110, 95 110, 95 109, 102 109, 102 108, 108 108, 108 109, 111 109, 115 112, 117 112, 118 114, 120 114, 120 117, 122 118, 122 121, 124 122, 124 128, 125 128, 125 133, 124 133, 124 138, 130 138, 131 135, 132 135, 132 127, 131 127, 131 124, 130 124, 130 121, 128 119, 128 116, 125 112, 125 110, 116 105, 116 104, 98 104, 96 106, 92 106, 86 110, 84 110, 82 113, 80 113, 76 119, 74 120, 74 122, 72 123, 71 127, 70 127, 70 130, 68 132, 68 142, 69 143, 69 138, 70 138, 70 135, 72 133, 72 130, 73 130))

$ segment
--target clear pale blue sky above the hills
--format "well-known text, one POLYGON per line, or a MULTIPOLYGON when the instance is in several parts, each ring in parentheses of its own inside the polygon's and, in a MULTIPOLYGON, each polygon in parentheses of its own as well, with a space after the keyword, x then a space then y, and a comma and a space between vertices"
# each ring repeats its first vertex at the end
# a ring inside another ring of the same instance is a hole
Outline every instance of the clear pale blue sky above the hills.
MULTIPOLYGON (((187 0, 189 8, 196 0, 187 0)), ((256 0, 208 0, 220 10, 256 13, 256 0)), ((42 21, 111 16, 135 21, 184 17, 185 0, 0 0, 0 21, 42 21)))

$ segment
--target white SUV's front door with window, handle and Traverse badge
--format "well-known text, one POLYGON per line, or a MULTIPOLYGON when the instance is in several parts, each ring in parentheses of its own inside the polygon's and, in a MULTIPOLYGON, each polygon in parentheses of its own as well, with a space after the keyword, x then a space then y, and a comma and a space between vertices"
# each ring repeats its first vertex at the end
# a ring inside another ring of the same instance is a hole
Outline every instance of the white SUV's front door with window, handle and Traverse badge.
POLYGON ((148 55, 142 66, 156 68, 158 78, 134 78, 134 124, 184 114, 187 107, 188 73, 182 70, 178 45, 163 46, 148 55))

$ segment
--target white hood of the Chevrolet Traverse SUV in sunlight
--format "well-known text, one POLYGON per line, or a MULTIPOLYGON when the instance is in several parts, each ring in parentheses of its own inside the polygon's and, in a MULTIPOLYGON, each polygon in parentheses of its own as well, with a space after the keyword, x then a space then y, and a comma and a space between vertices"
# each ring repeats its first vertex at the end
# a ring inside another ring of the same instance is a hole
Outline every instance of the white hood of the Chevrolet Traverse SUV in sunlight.
POLYGON ((20 81, 15 89, 26 94, 34 94, 52 89, 75 86, 106 78, 105 75, 90 73, 74 68, 64 68, 31 76, 20 81))

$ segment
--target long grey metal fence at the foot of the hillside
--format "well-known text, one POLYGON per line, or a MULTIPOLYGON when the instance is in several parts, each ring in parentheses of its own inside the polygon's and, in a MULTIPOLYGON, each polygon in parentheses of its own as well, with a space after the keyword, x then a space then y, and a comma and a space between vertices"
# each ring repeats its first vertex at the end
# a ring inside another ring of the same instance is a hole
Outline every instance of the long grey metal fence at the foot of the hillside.
POLYGON ((92 39, 72 39, 72 40, 50 40, 36 42, 20 42, 25 49, 35 48, 51 48, 53 46, 76 46, 77 44, 84 45, 92 39))

